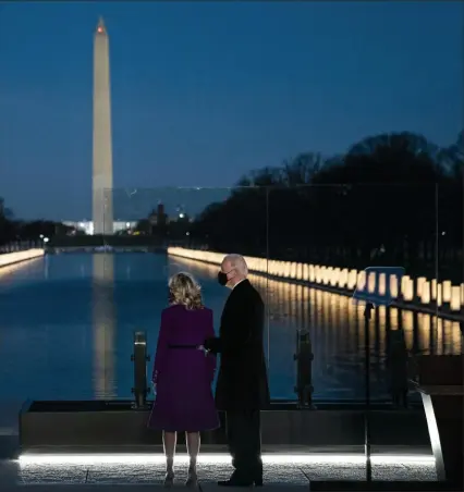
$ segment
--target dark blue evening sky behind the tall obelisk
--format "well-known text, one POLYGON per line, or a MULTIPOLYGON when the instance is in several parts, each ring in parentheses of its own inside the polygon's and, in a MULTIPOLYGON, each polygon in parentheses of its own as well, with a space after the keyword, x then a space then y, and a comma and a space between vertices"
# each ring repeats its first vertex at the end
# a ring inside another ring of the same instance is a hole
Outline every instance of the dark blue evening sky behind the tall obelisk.
POLYGON ((0 196, 20 217, 90 213, 99 14, 119 209, 198 208, 223 193, 156 188, 231 186, 381 132, 449 145, 463 126, 462 2, 4 3, 0 196))

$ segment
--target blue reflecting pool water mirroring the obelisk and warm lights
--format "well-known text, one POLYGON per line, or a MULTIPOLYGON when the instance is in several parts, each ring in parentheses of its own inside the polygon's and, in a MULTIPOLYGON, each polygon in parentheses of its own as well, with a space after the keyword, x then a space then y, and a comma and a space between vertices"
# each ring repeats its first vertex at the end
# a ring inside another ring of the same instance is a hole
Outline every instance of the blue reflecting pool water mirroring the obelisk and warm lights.
MULTIPOLYGON (((47 257, 2 270, 1 398, 131 398, 133 331, 147 331, 152 354, 168 278, 181 270, 202 283, 218 328, 229 291, 217 284, 215 266, 162 255, 98 254, 47 257)), ((363 397, 363 307, 346 296, 303 285, 257 275, 251 281, 268 307, 266 349, 272 397, 294 397, 293 356, 296 330, 302 328, 312 334, 315 397, 363 397)), ((457 323, 411 311, 400 316, 410 349, 461 352, 457 323)), ((370 321, 370 372, 377 397, 387 396, 388 324, 399 328, 399 311, 380 307, 370 321)))

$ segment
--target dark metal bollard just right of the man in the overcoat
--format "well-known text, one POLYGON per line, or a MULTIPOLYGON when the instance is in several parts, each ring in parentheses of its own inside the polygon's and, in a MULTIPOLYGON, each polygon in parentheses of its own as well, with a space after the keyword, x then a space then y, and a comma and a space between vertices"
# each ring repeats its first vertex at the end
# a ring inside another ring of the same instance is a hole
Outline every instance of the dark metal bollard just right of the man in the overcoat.
POLYGON ((296 332, 296 386, 298 408, 314 409, 313 405, 313 345, 308 330, 296 332))

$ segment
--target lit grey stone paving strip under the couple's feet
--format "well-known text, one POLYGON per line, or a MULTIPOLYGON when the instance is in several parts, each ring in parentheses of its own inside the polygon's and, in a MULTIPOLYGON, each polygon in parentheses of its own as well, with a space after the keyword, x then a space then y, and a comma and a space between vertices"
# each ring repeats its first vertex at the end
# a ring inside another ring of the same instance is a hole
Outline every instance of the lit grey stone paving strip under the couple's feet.
MULTIPOLYGON (((175 469, 179 484, 186 479, 186 465, 175 469)), ((217 480, 227 479, 232 468, 227 464, 203 463, 198 466, 202 487, 215 487, 217 480)), ((0 462, 0 483, 10 485, 156 485, 162 483, 164 467, 154 465, 39 465, 0 462)), ((435 464, 374 465, 374 480, 435 481, 435 464)), ((266 465, 265 481, 268 484, 308 487, 310 480, 365 480, 363 464, 314 463, 310 465, 266 465)))

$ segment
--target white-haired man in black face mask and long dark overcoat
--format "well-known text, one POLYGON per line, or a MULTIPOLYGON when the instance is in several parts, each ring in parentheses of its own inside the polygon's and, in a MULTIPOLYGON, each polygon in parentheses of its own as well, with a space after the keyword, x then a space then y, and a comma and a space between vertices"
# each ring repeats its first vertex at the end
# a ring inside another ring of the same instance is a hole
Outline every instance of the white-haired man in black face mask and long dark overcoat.
POLYGON ((225 411, 227 435, 235 468, 223 487, 262 485, 260 410, 269 405, 264 350, 265 304, 247 280, 241 255, 228 255, 218 282, 231 288, 225 302, 219 337, 205 341, 205 348, 221 355, 216 404, 225 411))

